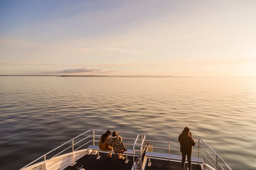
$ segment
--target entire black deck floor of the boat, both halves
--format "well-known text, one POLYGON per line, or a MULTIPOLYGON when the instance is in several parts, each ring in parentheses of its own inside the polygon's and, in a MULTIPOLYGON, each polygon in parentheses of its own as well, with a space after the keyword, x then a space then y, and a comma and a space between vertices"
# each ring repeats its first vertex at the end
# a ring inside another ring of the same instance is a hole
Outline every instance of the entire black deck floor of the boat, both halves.
MULTIPOLYGON (((126 164, 125 160, 119 160, 118 154, 112 153, 112 158, 106 157, 107 153, 100 152, 100 159, 97 158, 97 154, 85 155, 84 157, 78 159, 76 164, 73 166, 68 166, 64 170, 78 170, 76 167, 78 165, 83 165, 82 168, 85 170, 131 170, 133 166, 133 156, 128 155, 129 162, 126 164)), ((124 155, 125 156, 125 155, 124 155)), ((137 158, 137 157, 136 157, 137 158)), ((135 159, 136 159, 135 158, 135 159)), ((148 160, 145 166, 145 170, 180 170, 181 162, 161 160, 151 158, 151 166, 148 165, 148 160)), ((187 163, 185 163, 185 169, 187 169, 187 163)), ((193 170, 202 170, 201 166, 198 164, 192 164, 193 170)))

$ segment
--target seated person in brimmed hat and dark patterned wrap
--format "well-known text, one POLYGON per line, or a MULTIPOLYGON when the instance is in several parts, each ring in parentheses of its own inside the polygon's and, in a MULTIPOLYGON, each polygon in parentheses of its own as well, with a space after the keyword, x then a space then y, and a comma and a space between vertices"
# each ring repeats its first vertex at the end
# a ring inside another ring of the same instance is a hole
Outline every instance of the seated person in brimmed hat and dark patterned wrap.
POLYGON ((124 160, 125 157, 123 157, 123 153, 124 151, 127 151, 127 149, 123 144, 122 137, 119 136, 116 131, 113 131, 109 144, 111 147, 113 147, 114 153, 119 154, 118 159, 124 160))

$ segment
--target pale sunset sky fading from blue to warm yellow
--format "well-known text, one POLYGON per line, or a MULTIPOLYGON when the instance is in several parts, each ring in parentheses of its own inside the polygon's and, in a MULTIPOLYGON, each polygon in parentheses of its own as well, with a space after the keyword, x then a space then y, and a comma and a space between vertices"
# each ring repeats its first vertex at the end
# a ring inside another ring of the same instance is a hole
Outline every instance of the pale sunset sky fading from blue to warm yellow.
POLYGON ((255 0, 0 0, 0 75, 256 76, 255 0))

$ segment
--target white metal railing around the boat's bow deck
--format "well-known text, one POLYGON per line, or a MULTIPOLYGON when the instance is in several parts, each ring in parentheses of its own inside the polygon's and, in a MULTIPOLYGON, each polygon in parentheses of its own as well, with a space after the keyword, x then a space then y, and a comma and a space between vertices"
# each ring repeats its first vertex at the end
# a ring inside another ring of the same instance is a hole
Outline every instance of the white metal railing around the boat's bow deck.
MULTIPOLYGON (((41 157, 37 158, 36 160, 32 161, 31 163, 23 166, 20 170, 24 169, 24 168, 27 168, 28 166, 32 165, 33 163, 37 162, 38 160, 40 160, 41 158, 44 158, 44 161, 42 164, 46 163, 48 160, 58 156, 59 154, 63 153, 64 151, 68 150, 69 148, 72 148, 72 152, 74 153, 75 151, 78 151, 78 149, 80 149, 81 147, 89 144, 90 142, 93 142, 92 144, 95 146, 95 141, 98 141, 98 140, 95 140, 95 137, 100 137, 101 135, 96 135, 95 132, 105 132, 106 130, 97 130, 97 129, 90 129, 76 137, 74 137, 73 139, 63 143, 62 145, 54 148, 52 151, 49 151, 47 152, 46 154, 42 155, 41 157), (80 141, 74 143, 74 140, 79 138, 80 136, 84 135, 84 134, 87 134, 89 132, 92 132, 92 135, 89 135, 89 136, 86 136, 84 138, 82 138, 80 141), (84 141, 85 139, 89 138, 89 137, 93 137, 92 140, 89 140, 87 141, 86 143, 82 143, 81 146, 79 146, 78 148, 74 149, 74 146, 77 145, 78 143, 84 141), (50 157, 49 159, 46 159, 47 158, 47 155, 49 155, 50 153, 53 153, 53 151, 56 151, 58 148, 64 146, 65 144, 69 143, 72 141, 72 144, 71 146, 65 148, 64 150, 60 151, 59 153, 55 154, 53 157, 50 157)), ((175 148, 171 148, 170 145, 171 144, 175 144, 175 145, 179 145, 180 143, 177 143, 177 142, 171 142, 171 138, 178 138, 177 136, 166 136, 166 135, 153 135, 153 134, 141 134, 141 133, 133 133, 133 132, 119 132, 121 134, 130 134, 130 135, 137 135, 136 138, 130 138, 130 137, 122 137, 123 139, 126 139, 126 140, 133 140, 134 142, 133 143, 124 143, 124 145, 128 145, 128 146, 132 146, 133 147, 133 166, 135 164, 135 153, 136 152, 139 152, 140 154, 140 158, 142 158, 142 154, 143 154, 143 147, 148 147, 148 145, 143 145, 145 141, 148 141, 148 142, 157 142, 157 143, 162 143, 162 144, 165 144, 167 143, 168 144, 168 147, 158 147, 158 146, 150 146, 152 148, 158 148, 158 149, 167 149, 169 151, 169 154, 170 154, 170 151, 171 150, 174 150, 174 151, 179 151, 180 149, 175 149, 175 148), (139 139, 139 136, 141 136, 141 139, 139 139), (144 137, 143 137, 144 136, 144 137), (146 139, 146 136, 155 136, 155 137, 166 137, 169 139, 168 142, 165 142, 165 141, 157 141, 157 140, 145 140, 146 139), (138 141, 140 141, 139 143, 137 143, 138 141), (138 146, 140 147, 140 149, 135 149, 135 146, 138 146)), ((206 158, 210 164, 212 164, 212 166, 218 170, 218 166, 224 170, 222 168, 222 166, 219 164, 218 162, 218 159, 228 168, 228 170, 231 170, 231 168, 224 162, 224 160, 222 158, 220 158, 220 156, 215 152, 213 151, 212 148, 210 148, 206 142, 204 142, 203 140, 199 139, 199 138, 194 138, 194 140, 198 140, 198 145, 196 145, 198 147, 198 151, 193 151, 193 152, 196 152, 198 153, 198 158, 199 158, 199 154, 201 154, 204 158, 206 158), (213 154, 215 154, 215 157, 216 159, 200 144, 200 141, 207 146, 208 149, 210 149, 210 151, 212 151, 213 154), (199 148, 202 148, 215 162, 215 165, 202 153, 199 151, 199 148)), ((41 164, 40 164, 41 165, 41 164)), ((40 166, 40 165, 37 165, 37 166, 40 166)), ((140 165, 142 165, 142 159, 140 159, 140 165)), ((41 165, 42 166, 42 165, 41 165)))

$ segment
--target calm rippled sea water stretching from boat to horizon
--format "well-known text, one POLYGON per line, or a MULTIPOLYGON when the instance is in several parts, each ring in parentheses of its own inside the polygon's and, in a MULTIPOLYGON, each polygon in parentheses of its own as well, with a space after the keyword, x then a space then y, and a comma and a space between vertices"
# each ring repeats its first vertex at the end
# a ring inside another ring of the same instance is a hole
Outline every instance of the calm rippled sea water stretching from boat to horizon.
POLYGON ((178 136, 185 126, 231 169, 256 169, 256 78, 0 77, 0 87, 0 169, 89 129, 178 136))

